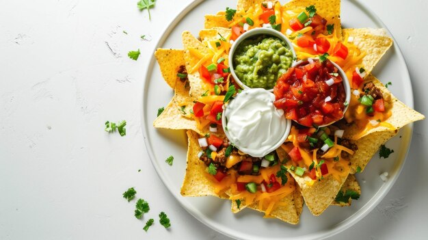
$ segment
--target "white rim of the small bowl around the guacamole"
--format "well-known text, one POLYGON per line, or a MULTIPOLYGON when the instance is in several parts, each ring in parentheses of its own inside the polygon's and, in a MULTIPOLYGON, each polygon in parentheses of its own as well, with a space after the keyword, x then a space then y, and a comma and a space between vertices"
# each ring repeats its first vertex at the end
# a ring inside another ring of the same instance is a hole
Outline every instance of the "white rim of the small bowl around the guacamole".
MULTIPOLYGON (((235 69, 233 66, 233 55, 235 55, 235 51, 237 50, 237 47, 239 46, 239 44, 241 44, 241 42, 247 38, 252 38, 258 35, 266 35, 266 36, 272 36, 272 37, 276 37, 279 38, 280 40, 284 41, 285 44, 289 47, 289 49, 291 50, 291 53, 293 53, 293 61, 292 61, 292 66, 293 66, 293 62, 295 62, 294 59, 296 59, 296 53, 294 51, 293 48, 293 44, 291 44, 290 40, 288 38, 286 38, 286 36, 284 36, 284 34, 282 34, 280 31, 276 31, 275 29, 271 29, 271 28, 267 28, 267 27, 259 27, 259 28, 255 28, 255 29, 251 29, 248 31, 245 31, 245 33, 243 33, 241 36, 239 36, 237 38, 237 40, 235 42, 232 43, 232 46, 230 47, 230 51, 229 51, 229 67, 230 67, 230 73, 232 74, 233 79, 235 79, 235 81, 238 83, 238 85, 245 89, 249 89, 250 87, 248 87, 247 85, 243 84, 241 82, 241 80, 238 78, 238 76, 235 74, 235 69)), ((268 90, 269 92, 273 92, 273 88, 268 90)))

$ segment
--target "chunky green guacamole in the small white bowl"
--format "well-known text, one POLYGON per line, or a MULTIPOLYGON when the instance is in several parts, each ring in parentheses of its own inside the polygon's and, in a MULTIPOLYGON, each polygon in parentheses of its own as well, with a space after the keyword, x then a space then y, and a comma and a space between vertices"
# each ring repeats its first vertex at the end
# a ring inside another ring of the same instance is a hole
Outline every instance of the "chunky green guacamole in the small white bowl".
POLYGON ((293 53, 284 41, 273 36, 256 36, 239 44, 233 56, 235 74, 249 88, 272 89, 276 79, 293 62, 293 53))

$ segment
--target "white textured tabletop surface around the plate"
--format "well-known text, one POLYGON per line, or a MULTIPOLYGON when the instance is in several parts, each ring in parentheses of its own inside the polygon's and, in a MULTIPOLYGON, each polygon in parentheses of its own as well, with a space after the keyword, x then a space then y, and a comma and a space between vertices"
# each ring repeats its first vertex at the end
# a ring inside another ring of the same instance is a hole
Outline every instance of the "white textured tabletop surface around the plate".
MULTIPOLYGON (((172 198, 141 131, 144 69, 163 29, 191 0, 158 0, 151 21, 136 2, 2 1, 0 239, 228 239, 172 198), (126 56, 136 49, 142 51, 137 62, 126 56), (126 136, 105 133, 106 120, 126 120, 126 136), (129 187, 150 203, 143 220, 133 217, 135 200, 122 198, 129 187), (171 219, 169 230, 158 222, 160 211, 171 219), (155 224, 144 232, 149 218, 155 224)), ((414 108, 427 116, 427 1, 361 2, 399 44, 414 108)), ((426 120, 414 124, 397 183, 334 239, 426 237, 427 130, 426 120)))

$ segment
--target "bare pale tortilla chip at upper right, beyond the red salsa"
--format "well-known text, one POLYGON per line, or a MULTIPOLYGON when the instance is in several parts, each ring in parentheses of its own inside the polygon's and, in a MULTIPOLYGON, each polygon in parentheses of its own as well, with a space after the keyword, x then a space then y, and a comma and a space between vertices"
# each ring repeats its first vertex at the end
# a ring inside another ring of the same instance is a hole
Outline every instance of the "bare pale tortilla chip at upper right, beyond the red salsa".
POLYGON ((358 46, 360 51, 366 53, 362 59, 362 66, 364 66, 367 75, 392 46, 393 41, 386 34, 385 29, 360 28, 343 29, 342 31, 345 39, 349 36, 353 37, 353 44, 358 46))

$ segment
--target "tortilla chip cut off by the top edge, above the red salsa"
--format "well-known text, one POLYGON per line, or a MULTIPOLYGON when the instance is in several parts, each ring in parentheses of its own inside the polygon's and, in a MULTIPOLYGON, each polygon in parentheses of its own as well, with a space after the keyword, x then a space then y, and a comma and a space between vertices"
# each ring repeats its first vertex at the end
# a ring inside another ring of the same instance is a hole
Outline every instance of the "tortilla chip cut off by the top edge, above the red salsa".
POLYGON ((286 10, 301 11, 310 5, 315 5, 317 14, 323 16, 328 24, 334 24, 334 34, 342 40, 340 25, 340 0, 291 0, 284 4, 286 10))

